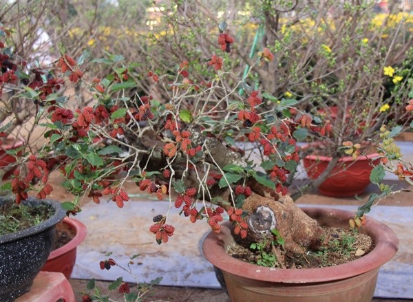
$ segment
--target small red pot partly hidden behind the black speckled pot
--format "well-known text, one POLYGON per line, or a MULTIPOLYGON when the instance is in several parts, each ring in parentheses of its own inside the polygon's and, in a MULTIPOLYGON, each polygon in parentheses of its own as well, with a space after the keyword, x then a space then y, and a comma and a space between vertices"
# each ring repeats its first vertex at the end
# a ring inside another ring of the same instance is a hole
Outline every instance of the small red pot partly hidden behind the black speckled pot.
POLYGON ((78 220, 68 217, 63 219, 63 223, 75 230, 76 235, 64 246, 53 250, 41 270, 45 272, 62 272, 66 279, 70 279, 74 264, 76 263, 77 246, 85 239, 87 228, 78 220))

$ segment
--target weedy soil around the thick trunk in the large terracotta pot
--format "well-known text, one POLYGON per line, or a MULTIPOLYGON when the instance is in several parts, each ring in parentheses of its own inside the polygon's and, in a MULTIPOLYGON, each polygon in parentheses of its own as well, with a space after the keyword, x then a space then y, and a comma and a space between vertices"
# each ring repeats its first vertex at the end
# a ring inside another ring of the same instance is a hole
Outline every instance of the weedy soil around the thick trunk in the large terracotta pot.
POLYGON ((319 250, 307 250, 304 254, 294 254, 276 250, 271 243, 265 250, 253 246, 247 241, 231 244, 227 248, 229 255, 242 261, 276 268, 324 268, 354 261, 367 255, 374 244, 369 235, 357 230, 324 227, 326 235, 320 238, 322 246, 319 250), (275 255, 275 257, 273 256, 275 255))

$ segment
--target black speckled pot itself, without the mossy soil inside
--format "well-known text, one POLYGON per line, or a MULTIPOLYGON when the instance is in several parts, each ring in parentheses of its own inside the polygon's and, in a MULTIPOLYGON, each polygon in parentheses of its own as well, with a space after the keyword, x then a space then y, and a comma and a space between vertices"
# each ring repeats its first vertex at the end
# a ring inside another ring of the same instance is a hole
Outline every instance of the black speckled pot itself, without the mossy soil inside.
MULTIPOLYGON (((0 197, 0 204, 14 202, 10 198, 0 197)), ((54 208, 54 215, 16 233, 0 236, 0 301, 11 302, 30 290, 34 277, 39 273, 52 250, 54 230, 58 222, 65 217, 65 211, 59 202, 29 198, 23 204, 49 204, 54 208)))

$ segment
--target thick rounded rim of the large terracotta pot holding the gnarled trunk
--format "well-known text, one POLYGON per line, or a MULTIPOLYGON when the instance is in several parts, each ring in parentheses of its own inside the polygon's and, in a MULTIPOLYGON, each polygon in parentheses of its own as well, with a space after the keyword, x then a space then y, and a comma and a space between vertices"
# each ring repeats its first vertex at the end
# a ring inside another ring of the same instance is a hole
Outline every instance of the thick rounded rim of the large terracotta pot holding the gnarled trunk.
MULTIPOLYGON (((351 211, 335 208, 303 208, 312 217, 339 217, 350 219, 354 217, 351 211)), ((231 223, 222 224, 221 233, 209 233, 202 244, 204 256, 214 266, 240 277, 260 281, 278 283, 320 283, 354 277, 370 270, 378 270, 389 261, 399 248, 399 240, 394 232, 385 224, 367 217, 363 231, 374 241, 375 247, 368 255, 338 266, 309 269, 282 269, 255 266, 228 255, 224 250, 224 238, 231 235, 231 223)))

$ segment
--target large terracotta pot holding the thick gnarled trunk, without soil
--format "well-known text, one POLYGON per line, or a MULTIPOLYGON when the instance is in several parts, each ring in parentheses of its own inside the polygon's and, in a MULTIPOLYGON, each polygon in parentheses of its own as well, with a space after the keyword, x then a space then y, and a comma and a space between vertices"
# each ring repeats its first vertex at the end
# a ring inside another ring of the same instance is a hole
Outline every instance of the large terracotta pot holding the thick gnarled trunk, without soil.
MULTIPOLYGON (((304 208, 321 226, 348 227, 354 213, 330 208, 304 208)), ((370 217, 361 231, 374 241, 374 250, 355 261, 328 268, 281 269, 255 266, 226 253, 233 244, 232 225, 210 233, 202 244, 204 256, 222 270, 233 302, 370 302, 379 268, 399 248, 396 235, 370 217)))

